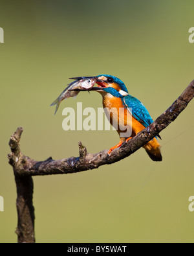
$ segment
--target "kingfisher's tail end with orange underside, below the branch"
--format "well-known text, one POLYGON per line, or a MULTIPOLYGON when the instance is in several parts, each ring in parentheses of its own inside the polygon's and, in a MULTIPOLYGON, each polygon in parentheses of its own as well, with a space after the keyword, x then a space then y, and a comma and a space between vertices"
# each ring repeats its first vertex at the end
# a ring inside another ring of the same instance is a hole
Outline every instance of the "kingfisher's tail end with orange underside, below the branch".
POLYGON ((144 148, 148 154, 148 156, 153 161, 162 161, 162 154, 160 150, 160 144, 158 143, 158 140, 154 138, 153 140, 149 141, 144 148))

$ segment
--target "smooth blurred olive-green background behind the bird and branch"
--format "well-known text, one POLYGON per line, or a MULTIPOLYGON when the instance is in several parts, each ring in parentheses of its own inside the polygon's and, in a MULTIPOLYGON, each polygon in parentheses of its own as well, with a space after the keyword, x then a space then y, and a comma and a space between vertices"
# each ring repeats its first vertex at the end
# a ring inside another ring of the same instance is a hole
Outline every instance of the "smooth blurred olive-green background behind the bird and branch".
MULTIPOLYGON (((193 1, 1 1, 0 242, 17 242, 16 185, 8 141, 23 126, 21 150, 36 160, 78 156, 118 143, 116 132, 62 129, 63 108, 102 106, 98 93, 50 103, 71 76, 122 79, 153 119, 194 79, 193 1)), ((162 136, 164 161, 143 149, 114 165, 35 177, 37 242, 193 242, 193 102, 162 136)))

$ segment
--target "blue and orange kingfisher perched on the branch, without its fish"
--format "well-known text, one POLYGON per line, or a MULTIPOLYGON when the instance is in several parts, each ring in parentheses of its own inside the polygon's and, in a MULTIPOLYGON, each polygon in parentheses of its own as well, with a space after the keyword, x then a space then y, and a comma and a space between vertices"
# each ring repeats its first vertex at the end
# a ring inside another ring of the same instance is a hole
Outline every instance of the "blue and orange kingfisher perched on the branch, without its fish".
MULTIPOLYGON (((118 145, 113 146, 108 154, 119 148, 123 143, 135 137, 153 122, 151 115, 140 100, 129 95, 124 82, 112 75, 83 76, 73 79, 95 78, 97 87, 92 87, 92 91, 97 91, 102 95, 103 108, 111 125, 120 136, 118 145), (122 110, 122 111, 120 111, 122 110), (118 125, 119 124, 119 125, 118 125), (124 132, 127 131, 127 132, 124 132)), ((160 138, 160 135, 157 137, 160 138)), ((161 146, 155 137, 143 148, 153 161, 162 161, 161 146)), ((161 138, 160 138, 161 139, 161 138)))

